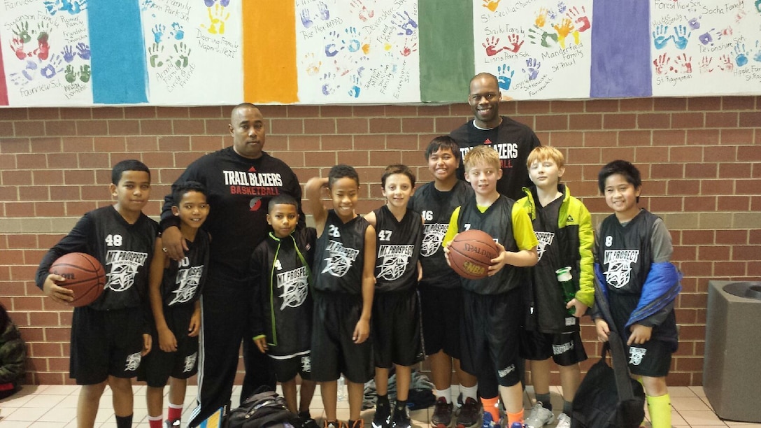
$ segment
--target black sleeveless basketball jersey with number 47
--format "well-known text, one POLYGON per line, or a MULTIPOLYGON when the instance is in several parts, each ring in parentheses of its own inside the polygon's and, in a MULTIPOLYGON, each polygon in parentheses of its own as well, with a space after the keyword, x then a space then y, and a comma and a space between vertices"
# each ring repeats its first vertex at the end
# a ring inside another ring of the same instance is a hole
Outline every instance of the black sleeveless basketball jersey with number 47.
POLYGON ((373 212, 377 235, 375 292, 412 289, 418 284, 418 258, 423 239, 420 214, 407 209, 399 222, 385 205, 373 212))

